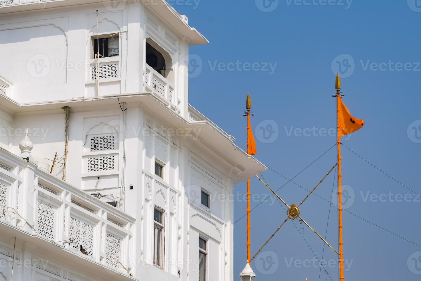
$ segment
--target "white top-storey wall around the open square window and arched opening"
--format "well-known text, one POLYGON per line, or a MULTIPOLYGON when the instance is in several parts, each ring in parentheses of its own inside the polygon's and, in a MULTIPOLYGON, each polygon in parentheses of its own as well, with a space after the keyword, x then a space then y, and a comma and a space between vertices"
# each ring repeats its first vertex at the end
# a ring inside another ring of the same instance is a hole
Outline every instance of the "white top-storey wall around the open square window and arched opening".
POLYGON ((2 15, 0 52, 6 55, 0 76, 13 82, 8 95, 20 103, 144 92, 146 40, 151 38, 171 57, 172 103, 187 118, 188 72, 182 57, 189 46, 171 29, 139 1, 117 11, 99 3, 2 15), (97 30, 120 35, 119 56, 99 60, 118 65, 118 75, 100 79, 98 93, 92 79, 92 36, 97 30))

